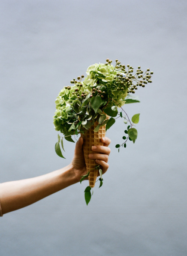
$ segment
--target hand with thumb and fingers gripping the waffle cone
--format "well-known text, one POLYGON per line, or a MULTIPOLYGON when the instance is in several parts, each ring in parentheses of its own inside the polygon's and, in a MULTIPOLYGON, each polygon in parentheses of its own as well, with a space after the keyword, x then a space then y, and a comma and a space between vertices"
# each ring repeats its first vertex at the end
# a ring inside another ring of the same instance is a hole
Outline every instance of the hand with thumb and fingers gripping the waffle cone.
MULTIPOLYGON (((93 149, 93 156, 89 155, 90 158, 96 160, 96 164, 102 166, 102 173, 105 173, 109 167, 108 162, 108 156, 110 155, 110 148, 108 146, 110 145, 111 140, 107 137, 104 137, 101 139, 101 142, 104 143, 104 146, 98 146, 96 145, 96 149, 93 149), (94 154, 94 151, 99 152, 101 154, 94 154)), ((80 137, 79 140, 76 143, 74 157, 71 162, 71 165, 74 170, 74 175, 76 176, 77 182, 80 181, 81 176, 85 175, 87 173, 86 171, 86 165, 85 165, 85 158, 83 154, 83 138, 80 137)))

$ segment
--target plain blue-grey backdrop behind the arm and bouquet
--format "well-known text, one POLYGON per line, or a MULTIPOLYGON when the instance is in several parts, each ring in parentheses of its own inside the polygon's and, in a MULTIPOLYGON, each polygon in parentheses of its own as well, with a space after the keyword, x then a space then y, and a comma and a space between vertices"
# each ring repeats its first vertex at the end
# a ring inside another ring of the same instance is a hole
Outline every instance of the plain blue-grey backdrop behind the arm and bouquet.
POLYGON ((0 218, 0 255, 187 255, 186 11, 174 1, 1 0, 0 181, 70 163, 54 151, 55 98, 93 63, 154 71, 139 88, 138 139, 119 153, 86 206, 86 182, 0 218))

